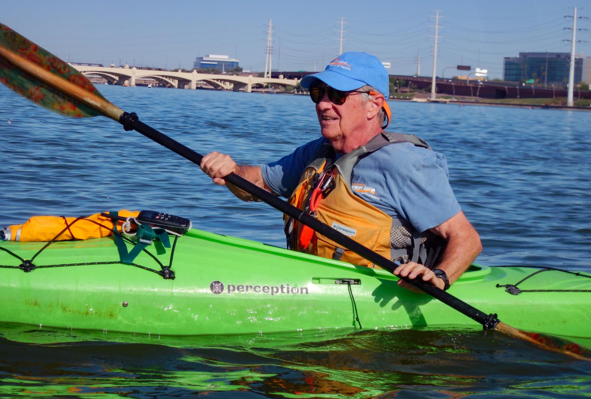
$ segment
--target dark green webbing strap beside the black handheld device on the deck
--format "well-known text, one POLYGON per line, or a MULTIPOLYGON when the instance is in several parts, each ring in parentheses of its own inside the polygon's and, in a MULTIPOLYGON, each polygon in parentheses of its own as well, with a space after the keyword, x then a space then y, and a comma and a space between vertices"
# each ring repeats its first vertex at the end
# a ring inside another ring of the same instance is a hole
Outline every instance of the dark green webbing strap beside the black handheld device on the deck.
MULTIPOLYGON (((109 212, 109 215, 118 216, 118 212, 109 212)), ((113 238, 115 238, 115 245, 117 246, 117 251, 119 252, 119 259, 121 259, 121 263, 123 264, 132 264, 134 263, 135 257, 139 255, 139 253, 144 250, 145 247, 152 244, 154 240, 154 246, 156 248, 156 253, 158 255, 162 255, 166 253, 164 247, 170 248, 170 240, 168 239, 168 234, 163 228, 152 229, 148 225, 140 224, 138 225, 138 230, 136 232, 136 237, 138 237, 138 242, 135 243, 134 248, 131 251, 127 251, 127 246, 125 245, 125 241, 121 236, 119 236, 117 231, 117 220, 116 218, 112 218, 113 220, 113 231, 115 231, 113 238)))

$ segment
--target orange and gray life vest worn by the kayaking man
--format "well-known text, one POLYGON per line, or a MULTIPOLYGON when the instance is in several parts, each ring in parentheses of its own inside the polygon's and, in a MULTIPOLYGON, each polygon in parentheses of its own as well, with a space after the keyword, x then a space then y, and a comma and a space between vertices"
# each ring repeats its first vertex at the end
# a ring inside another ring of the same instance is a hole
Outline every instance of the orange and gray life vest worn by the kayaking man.
MULTIPOLYGON (((325 143, 304 170, 288 201, 387 259, 415 261, 433 268, 443 253, 443 238, 428 230, 419 233, 407 220, 392 218, 354 194, 351 188, 353 166, 359 158, 395 143, 431 149, 417 136, 382 132, 333 163, 335 152, 330 143, 325 143)), ((289 249, 378 268, 293 218, 284 215, 284 220, 289 249)))

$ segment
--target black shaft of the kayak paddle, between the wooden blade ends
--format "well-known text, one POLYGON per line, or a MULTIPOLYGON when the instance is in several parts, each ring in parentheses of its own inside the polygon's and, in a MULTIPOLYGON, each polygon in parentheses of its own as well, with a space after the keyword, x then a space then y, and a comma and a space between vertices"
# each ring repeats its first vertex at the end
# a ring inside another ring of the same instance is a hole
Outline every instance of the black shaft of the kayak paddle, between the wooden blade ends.
MULTIPOLYGON (((119 122, 121 123, 121 125, 124 126, 125 130, 136 130, 137 132, 142 133, 142 135, 146 136, 147 138, 154 140, 158 144, 170 149, 171 151, 176 152, 180 156, 183 156, 183 158, 189 159, 189 161, 195 163, 196 165, 200 165, 201 160, 203 159, 203 155, 200 155, 199 153, 193 151, 189 147, 182 145, 181 143, 177 142, 174 139, 171 139, 163 133, 158 132, 158 130, 153 129, 145 123, 140 122, 135 112, 124 112, 121 115, 121 117, 119 117, 119 122)), ((343 247, 348 248, 349 250, 355 252, 359 256, 362 256, 366 260, 369 260, 372 263, 378 265, 379 267, 382 267, 382 269, 388 270, 388 272, 394 273, 394 270, 399 266, 391 260, 386 259, 385 257, 375 253, 369 248, 362 246, 357 241, 352 240, 352 238, 349 238, 344 234, 339 233, 339 231, 336 231, 334 228, 329 227, 328 225, 320 221, 317 221, 315 218, 311 217, 306 212, 299 210, 293 205, 290 205, 287 202, 276 197, 275 195, 271 194, 270 192, 265 191, 264 189, 252 184, 246 179, 243 179, 241 176, 231 173, 228 176, 225 176, 224 179, 225 181, 235 185, 243 191, 246 191, 249 194, 254 195, 254 197, 259 198, 259 200, 267 202, 267 204, 271 205, 273 208, 293 217, 300 223, 307 225, 317 233, 320 233, 325 237, 329 237, 331 240, 342 245, 343 247)), ((451 306, 458 312, 463 313, 470 319, 476 320, 477 322, 482 324, 485 329, 494 328, 496 324, 499 322, 499 320, 496 318, 496 315, 486 315, 485 313, 480 312, 480 310, 474 308, 473 306, 468 305, 466 302, 463 302, 463 300, 456 298, 455 296, 445 292, 444 290, 434 286, 433 284, 424 282, 419 278, 409 279, 408 277, 399 277, 403 279, 405 282, 411 283, 415 287, 433 296, 435 299, 439 299, 446 305, 451 306)))

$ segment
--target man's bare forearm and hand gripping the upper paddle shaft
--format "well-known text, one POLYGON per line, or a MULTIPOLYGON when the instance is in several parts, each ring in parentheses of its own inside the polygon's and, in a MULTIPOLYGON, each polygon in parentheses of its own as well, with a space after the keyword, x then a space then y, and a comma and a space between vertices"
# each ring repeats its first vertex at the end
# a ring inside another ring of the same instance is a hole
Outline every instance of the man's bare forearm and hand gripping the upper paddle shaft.
POLYGON ((240 198, 242 201, 261 200, 251 194, 248 194, 248 192, 239 189, 235 185, 229 184, 223 179, 224 176, 228 176, 233 172, 236 175, 248 180, 252 184, 264 189, 265 191, 274 194, 271 191, 271 188, 267 186, 264 179, 262 178, 260 166, 237 165, 229 155, 214 151, 203 157, 199 167, 203 172, 205 172, 206 175, 213 179, 215 184, 220 186, 225 185, 230 191, 232 191, 234 195, 236 195, 236 197, 240 198))

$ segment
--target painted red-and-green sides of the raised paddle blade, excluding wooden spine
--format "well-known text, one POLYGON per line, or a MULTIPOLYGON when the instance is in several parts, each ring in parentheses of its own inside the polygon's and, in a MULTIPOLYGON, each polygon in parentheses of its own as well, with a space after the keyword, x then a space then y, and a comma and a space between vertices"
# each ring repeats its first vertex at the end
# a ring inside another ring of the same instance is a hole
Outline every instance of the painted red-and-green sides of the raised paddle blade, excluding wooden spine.
MULTIPOLYGON (((37 64, 44 70, 105 100, 105 97, 96 90, 90 80, 79 71, 1 23, 0 50, 18 55, 20 62, 22 60, 23 63, 37 64)), ((22 71, 13 61, 4 57, 2 52, 0 52, 0 81, 22 97, 60 115, 72 117, 102 115, 102 113, 56 90, 53 86, 22 71)))

